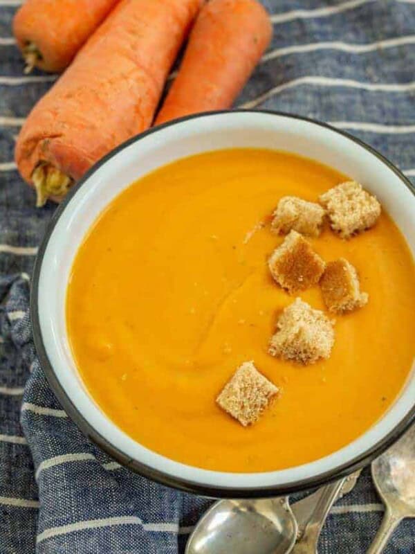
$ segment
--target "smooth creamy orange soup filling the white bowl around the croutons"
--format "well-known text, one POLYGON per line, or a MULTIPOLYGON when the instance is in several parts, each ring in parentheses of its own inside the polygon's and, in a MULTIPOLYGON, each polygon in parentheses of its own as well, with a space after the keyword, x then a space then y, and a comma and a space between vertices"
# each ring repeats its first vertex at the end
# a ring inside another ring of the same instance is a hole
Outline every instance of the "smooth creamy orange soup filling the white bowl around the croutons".
MULTIPOLYGON (((385 212, 349 241, 329 229, 311 240, 324 260, 355 265, 369 292, 367 306, 336 317, 331 358, 304 367, 267 353, 293 301, 266 265, 283 240, 269 215, 283 195, 315 201, 344 179, 284 152, 223 150, 160 168, 111 203, 75 258, 67 325, 82 378, 116 425, 176 461, 259 472, 330 454, 387 411, 414 357, 415 270, 385 212), (215 398, 247 360, 280 393, 244 428, 215 398)), ((301 297, 324 310, 318 287, 301 297)))

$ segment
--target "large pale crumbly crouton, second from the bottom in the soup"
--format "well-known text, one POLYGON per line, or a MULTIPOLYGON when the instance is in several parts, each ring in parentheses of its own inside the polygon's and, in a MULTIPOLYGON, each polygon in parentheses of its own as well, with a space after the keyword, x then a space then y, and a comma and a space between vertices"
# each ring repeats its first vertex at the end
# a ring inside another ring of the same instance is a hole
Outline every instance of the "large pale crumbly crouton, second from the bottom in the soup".
POLYGON ((327 359, 334 343, 333 323, 323 312, 296 298, 279 316, 268 352, 304 365, 327 359))

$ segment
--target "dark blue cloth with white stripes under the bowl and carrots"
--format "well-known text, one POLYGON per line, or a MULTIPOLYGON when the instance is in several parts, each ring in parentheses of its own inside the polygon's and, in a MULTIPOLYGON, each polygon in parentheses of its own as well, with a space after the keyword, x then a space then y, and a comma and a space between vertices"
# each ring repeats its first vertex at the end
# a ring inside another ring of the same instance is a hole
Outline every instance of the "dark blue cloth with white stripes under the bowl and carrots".
MULTIPOLYGON (((150 0, 149 0, 150 1, 150 0)), ((266 0, 274 38, 237 105, 331 122, 415 179, 414 0, 266 0)), ((176 554, 210 501, 132 474, 62 411, 39 367, 30 271, 55 206, 34 206, 15 136, 54 77, 23 76, 0 0, 0 554, 176 554)), ((368 470, 333 509, 320 552, 364 553, 382 517, 368 470)), ((405 521, 387 554, 415 553, 405 521)))

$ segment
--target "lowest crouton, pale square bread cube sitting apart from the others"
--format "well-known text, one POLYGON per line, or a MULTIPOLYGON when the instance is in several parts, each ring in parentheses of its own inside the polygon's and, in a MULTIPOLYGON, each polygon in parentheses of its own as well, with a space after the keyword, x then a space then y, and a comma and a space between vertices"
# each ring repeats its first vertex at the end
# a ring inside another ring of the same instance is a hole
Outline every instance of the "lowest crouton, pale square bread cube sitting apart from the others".
POLYGON ((216 402, 246 427, 255 423, 278 388, 259 373, 253 361, 245 361, 223 387, 216 402))

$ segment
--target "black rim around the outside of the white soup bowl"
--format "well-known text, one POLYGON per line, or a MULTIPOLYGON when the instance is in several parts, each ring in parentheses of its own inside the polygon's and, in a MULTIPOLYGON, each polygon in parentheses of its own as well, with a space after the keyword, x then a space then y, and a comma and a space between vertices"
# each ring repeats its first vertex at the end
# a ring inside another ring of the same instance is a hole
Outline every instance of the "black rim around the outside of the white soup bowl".
POLYGON ((98 447, 100 447, 104 452, 109 454, 111 458, 114 458, 116 461, 120 462, 125 467, 128 467, 130 470, 133 470, 133 472, 136 472, 149 479, 152 479, 153 481, 157 481, 162 485, 167 485, 169 487, 183 490, 185 492, 201 494, 206 497, 214 497, 214 498, 277 497, 277 496, 282 496, 286 494, 291 494, 293 492, 299 492, 301 490, 309 490, 309 489, 315 488, 317 486, 328 483, 329 481, 333 481, 335 479, 340 479, 344 476, 347 476, 351 472, 356 471, 361 467, 369 464, 371 461, 374 460, 374 458, 379 456, 391 444, 393 444, 396 440, 398 440, 398 438, 409 428, 412 422, 414 422, 415 402, 414 402, 414 406, 412 406, 412 409, 410 409, 410 411, 405 415, 405 417, 402 420, 400 420, 398 425, 396 425, 396 427, 394 427, 394 429, 392 429, 389 432, 389 434, 387 434, 385 437, 379 440, 378 443, 376 443, 375 445, 367 449, 365 452, 363 452, 356 458, 353 458, 344 464, 340 464, 337 467, 334 467, 330 471, 323 472, 321 474, 316 474, 315 476, 309 477, 307 479, 302 479, 300 481, 296 481, 293 483, 286 483, 286 484, 283 483, 280 485, 268 485, 266 487, 227 488, 225 486, 205 485, 194 481, 189 481, 184 478, 182 479, 181 477, 172 476, 160 470, 156 470, 153 467, 149 467, 148 465, 145 465, 137 460, 134 460, 129 456, 127 456, 127 454, 124 454, 124 452, 122 452, 120 449, 116 448, 111 443, 109 443, 108 440, 104 438, 102 435, 100 435, 98 431, 96 431, 91 426, 91 424, 84 418, 84 416, 80 413, 80 411, 78 411, 76 406, 73 404, 71 398, 68 396, 66 391, 64 391, 64 388, 62 387, 62 385, 59 383, 59 380, 55 375, 55 370, 53 369, 53 366, 50 363, 50 360, 48 359, 48 355, 46 353, 46 348, 44 346, 42 331, 41 331, 40 322, 39 322, 39 308, 38 308, 37 298, 39 294, 39 276, 42 268, 44 253, 48 246, 50 235, 52 235, 53 230, 55 229, 55 225, 59 220, 59 217, 61 217, 64 209, 66 208, 66 205, 68 204, 68 202, 71 201, 73 196, 77 193, 77 190, 80 189, 80 187, 82 186, 82 184, 84 184, 86 179, 89 179, 89 177, 98 168, 100 168, 100 166, 102 166, 104 163, 107 163, 107 161, 109 161, 109 159, 111 159, 113 156, 118 154, 120 150, 124 149, 126 146, 132 143, 136 143, 140 141, 141 139, 143 139, 145 136, 149 134, 158 132, 160 131, 160 129, 164 129, 165 127, 170 127, 172 125, 177 125, 178 123, 182 123, 183 121, 187 121, 190 119, 196 119, 196 118, 203 119, 203 118, 208 118, 210 116, 217 116, 221 114, 230 114, 230 113, 232 114, 251 113, 251 114, 266 114, 268 116, 280 116, 284 118, 302 120, 307 123, 313 123, 314 125, 318 125, 320 127, 325 127, 326 129, 329 129, 331 132, 335 132, 337 134, 340 134, 346 137, 350 141, 357 143, 362 148, 365 148, 365 150, 368 150, 369 152, 371 152, 371 154, 374 154, 374 156, 380 159, 380 161, 382 161, 382 163, 384 163, 385 166, 391 169, 399 177, 400 181, 402 181, 403 184, 407 186, 407 188, 412 192, 412 194, 415 195, 414 188, 412 187, 412 184, 409 182, 409 180, 406 179, 406 177, 391 162, 389 162, 384 156, 382 156, 382 154, 380 154, 379 152, 374 150, 374 148, 371 148, 369 145, 365 144, 364 142, 360 141, 359 139, 356 139, 356 137, 351 136, 349 133, 340 131, 339 129, 335 129, 334 127, 331 127, 331 125, 327 125, 326 123, 321 123, 320 121, 316 121, 310 118, 305 118, 302 116, 297 116, 294 114, 286 114, 280 111, 269 111, 269 110, 244 110, 244 109, 235 109, 232 111, 220 110, 220 111, 209 111, 209 112, 206 112, 205 114, 186 116, 186 117, 174 120, 172 122, 165 123, 164 125, 159 125, 158 127, 148 129, 142 134, 134 136, 132 139, 125 141, 114 150, 111 150, 111 152, 109 152, 109 154, 107 154, 100 161, 98 161, 98 163, 95 163, 95 165, 88 172, 86 172, 86 175, 84 175, 84 177, 80 179, 79 183, 69 191, 68 195, 66 195, 66 198, 64 199, 64 201, 61 204, 59 204, 53 217, 51 218, 48 228, 46 229, 46 233, 44 234, 42 244, 40 245, 39 251, 37 253, 35 267, 33 269, 32 287, 30 292, 30 317, 31 317, 32 326, 33 326, 33 338, 35 341, 37 355, 39 357, 40 364, 46 374, 50 387, 52 388, 53 392, 57 396, 57 399, 59 400, 59 402, 62 404, 66 413, 73 420, 73 422, 75 422, 77 427, 79 427, 81 431, 84 433, 84 435, 86 435, 86 437, 88 437, 93 443, 98 445, 98 447))

